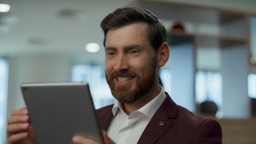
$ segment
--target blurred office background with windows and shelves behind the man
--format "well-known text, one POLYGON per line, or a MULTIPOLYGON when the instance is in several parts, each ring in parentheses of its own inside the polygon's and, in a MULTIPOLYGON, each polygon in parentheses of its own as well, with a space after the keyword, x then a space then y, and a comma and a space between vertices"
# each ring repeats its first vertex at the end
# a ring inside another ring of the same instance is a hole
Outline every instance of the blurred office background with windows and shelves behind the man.
POLYGON ((5 143, 11 111, 25 106, 23 82, 85 81, 96 109, 114 103, 105 80, 99 25, 108 13, 126 6, 153 11, 166 26, 171 58, 160 79, 174 101, 217 119, 224 143, 256 143, 255 0, 1 4, 10 10, 0 12, 0 144, 5 143))

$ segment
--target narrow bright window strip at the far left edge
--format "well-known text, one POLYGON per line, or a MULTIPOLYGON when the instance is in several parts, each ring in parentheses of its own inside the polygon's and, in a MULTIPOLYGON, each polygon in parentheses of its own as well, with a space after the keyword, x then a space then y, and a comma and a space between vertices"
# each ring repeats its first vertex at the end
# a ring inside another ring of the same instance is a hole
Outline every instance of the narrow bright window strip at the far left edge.
POLYGON ((8 61, 0 57, 0 144, 5 143, 7 125, 8 61))

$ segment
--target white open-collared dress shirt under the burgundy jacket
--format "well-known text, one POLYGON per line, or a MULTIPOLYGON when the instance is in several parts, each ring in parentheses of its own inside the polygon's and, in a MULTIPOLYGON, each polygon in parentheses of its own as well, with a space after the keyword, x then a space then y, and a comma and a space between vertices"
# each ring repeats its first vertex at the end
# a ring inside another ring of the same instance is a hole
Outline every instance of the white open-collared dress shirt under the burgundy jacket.
POLYGON ((112 108, 114 118, 108 128, 108 136, 120 144, 137 143, 148 122, 156 110, 165 100, 166 95, 161 86, 161 91, 153 100, 141 107, 141 109, 126 115, 121 103, 115 102, 112 108))

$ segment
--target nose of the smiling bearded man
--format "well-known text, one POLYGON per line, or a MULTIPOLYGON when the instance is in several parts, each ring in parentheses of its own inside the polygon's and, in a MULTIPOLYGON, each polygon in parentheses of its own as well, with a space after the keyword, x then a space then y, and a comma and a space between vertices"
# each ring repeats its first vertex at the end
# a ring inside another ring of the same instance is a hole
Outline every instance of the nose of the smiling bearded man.
POLYGON ((129 68, 129 60, 126 55, 119 55, 115 61, 115 71, 124 72, 129 68))

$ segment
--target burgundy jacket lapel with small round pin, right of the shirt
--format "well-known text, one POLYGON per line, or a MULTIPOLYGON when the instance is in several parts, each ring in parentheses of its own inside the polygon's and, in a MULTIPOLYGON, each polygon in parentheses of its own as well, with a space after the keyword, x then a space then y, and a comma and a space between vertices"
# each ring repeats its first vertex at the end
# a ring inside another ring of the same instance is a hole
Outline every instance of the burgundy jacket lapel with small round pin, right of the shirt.
POLYGON ((138 144, 154 143, 161 137, 166 130, 172 127, 170 119, 177 115, 177 105, 166 93, 166 99, 151 118, 147 127, 139 138, 138 144))

